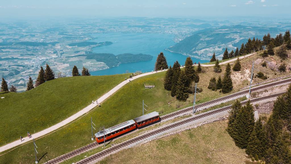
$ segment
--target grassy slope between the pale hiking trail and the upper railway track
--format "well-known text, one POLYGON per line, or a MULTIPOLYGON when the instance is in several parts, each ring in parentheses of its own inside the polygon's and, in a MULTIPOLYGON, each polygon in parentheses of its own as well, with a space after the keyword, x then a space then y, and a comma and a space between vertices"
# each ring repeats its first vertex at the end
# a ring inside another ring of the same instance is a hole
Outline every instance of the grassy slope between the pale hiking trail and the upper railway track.
MULTIPOLYGON (((254 56, 254 58, 255 57, 258 56, 254 56)), ((245 76, 243 76, 243 78, 238 77, 245 74, 245 69, 250 68, 249 65, 251 64, 251 59, 245 59, 241 62, 243 66, 242 71, 232 73, 232 77, 238 79, 234 80, 234 90, 232 93, 249 85, 245 76)), ((225 66, 222 67, 224 71, 225 66)), ((164 90, 164 74, 165 72, 160 72, 127 83, 126 86, 118 90, 118 92, 102 103, 101 108, 95 108, 77 121, 74 121, 52 134, 37 139, 36 143, 39 147, 39 156, 47 153, 49 158, 52 159, 56 156, 77 149, 80 146, 91 143, 91 116, 93 117, 93 122, 96 124, 96 129, 98 130, 99 127, 103 125, 108 128, 112 125, 140 116, 142 114, 142 100, 144 100, 145 104, 148 106, 146 108, 148 112, 158 111, 161 115, 192 106, 193 95, 190 95, 186 102, 178 102, 175 98, 171 97, 169 91, 164 90), (151 84, 154 83, 155 88, 145 89, 143 86, 144 82, 151 84)), ((277 72, 277 74, 279 76, 290 74, 290 72, 277 72)), ((220 73, 220 75, 223 76, 223 72, 220 73)), ((207 89, 209 80, 212 76, 218 77, 219 74, 213 72, 213 67, 203 67, 203 73, 200 74, 200 81, 198 83, 198 87, 202 88, 203 92, 197 95, 197 104, 225 96, 225 94, 219 93, 219 91, 207 89)), ((32 146, 33 145, 30 142, 0 156, 0 163, 33 163, 34 152, 33 149, 31 149, 32 146)), ((45 159, 42 158, 40 162, 45 162, 45 159)))

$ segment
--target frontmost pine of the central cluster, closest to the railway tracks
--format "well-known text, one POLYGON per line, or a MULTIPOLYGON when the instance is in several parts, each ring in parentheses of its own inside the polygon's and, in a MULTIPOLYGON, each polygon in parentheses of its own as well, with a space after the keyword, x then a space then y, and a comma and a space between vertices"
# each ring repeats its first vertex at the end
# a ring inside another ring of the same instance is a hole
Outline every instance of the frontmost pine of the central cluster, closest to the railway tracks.
POLYGON ((186 101, 189 97, 188 88, 187 88, 187 76, 184 71, 181 71, 178 82, 177 82, 177 90, 176 90, 176 98, 179 101, 186 101))

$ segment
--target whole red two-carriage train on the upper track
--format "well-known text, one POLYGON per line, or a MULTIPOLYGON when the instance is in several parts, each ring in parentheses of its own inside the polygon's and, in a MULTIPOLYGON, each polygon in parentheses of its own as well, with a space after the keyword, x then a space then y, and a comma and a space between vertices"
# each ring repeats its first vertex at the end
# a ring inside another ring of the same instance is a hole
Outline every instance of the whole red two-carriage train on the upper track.
POLYGON ((113 137, 122 135, 123 133, 132 131, 136 128, 140 128, 142 126, 148 125, 150 123, 154 123, 160 120, 159 113, 154 111, 149 114, 145 114, 143 116, 134 118, 133 120, 125 121, 124 123, 115 125, 111 128, 105 129, 104 131, 100 131, 95 134, 96 141, 98 143, 104 142, 104 135, 105 135, 105 141, 109 140, 113 137))

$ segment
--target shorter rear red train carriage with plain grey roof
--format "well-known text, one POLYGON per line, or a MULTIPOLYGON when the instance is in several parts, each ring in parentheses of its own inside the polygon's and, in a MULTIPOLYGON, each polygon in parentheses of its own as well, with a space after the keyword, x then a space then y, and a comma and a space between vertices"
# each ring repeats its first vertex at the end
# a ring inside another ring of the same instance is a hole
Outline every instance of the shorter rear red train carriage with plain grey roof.
POLYGON ((134 118, 134 121, 136 122, 136 126, 138 128, 148 125, 150 123, 154 123, 159 120, 160 120, 160 116, 159 116, 159 113, 156 111, 134 118))

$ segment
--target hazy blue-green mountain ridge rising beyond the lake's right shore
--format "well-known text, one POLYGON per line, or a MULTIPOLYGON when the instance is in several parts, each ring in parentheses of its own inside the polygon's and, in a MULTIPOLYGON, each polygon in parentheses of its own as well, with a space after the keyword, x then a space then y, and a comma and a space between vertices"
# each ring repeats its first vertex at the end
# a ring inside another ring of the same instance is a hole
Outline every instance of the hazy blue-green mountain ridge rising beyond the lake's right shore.
MULTIPOLYGON (((208 24, 203 26, 209 27, 208 24)), ((246 43, 249 38, 258 37, 258 39, 262 39, 268 32, 274 36, 280 30, 275 27, 265 28, 244 25, 205 28, 194 32, 191 36, 166 50, 205 60, 209 60, 215 52, 221 58, 222 56, 219 55, 222 55, 226 47, 230 51, 235 50, 237 47, 240 48, 242 43, 246 43)))

